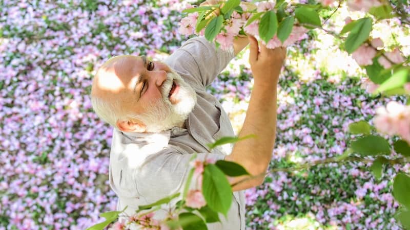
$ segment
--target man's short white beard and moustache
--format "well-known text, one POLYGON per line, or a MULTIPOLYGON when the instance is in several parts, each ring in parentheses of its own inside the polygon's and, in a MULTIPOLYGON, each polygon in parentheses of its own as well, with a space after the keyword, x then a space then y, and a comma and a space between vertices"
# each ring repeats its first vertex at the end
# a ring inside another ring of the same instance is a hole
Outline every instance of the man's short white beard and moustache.
POLYGON ((154 101, 144 114, 138 115, 138 119, 146 125, 146 132, 161 132, 173 127, 182 127, 183 122, 188 118, 189 113, 196 104, 196 93, 179 74, 172 71, 167 74, 167 80, 161 86, 162 99, 154 101), (171 104, 168 95, 172 82, 179 85, 176 95, 179 100, 176 104, 171 104))

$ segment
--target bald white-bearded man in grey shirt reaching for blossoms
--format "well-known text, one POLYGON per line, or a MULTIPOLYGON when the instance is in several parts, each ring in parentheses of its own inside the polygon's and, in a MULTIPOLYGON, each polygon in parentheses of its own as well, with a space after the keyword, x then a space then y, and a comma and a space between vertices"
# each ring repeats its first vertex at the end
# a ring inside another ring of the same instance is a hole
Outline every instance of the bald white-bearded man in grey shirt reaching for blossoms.
MULTIPOLYGON (((189 39, 165 62, 118 56, 101 66, 93 79, 92 103, 98 116, 114 126, 110 153, 110 185, 118 195, 117 209, 149 204, 181 191, 191 154, 242 165, 252 175, 269 165, 276 132, 276 86, 285 49, 269 50, 254 37, 238 38, 234 48, 221 51, 203 37, 189 39), (232 153, 207 147, 222 136, 234 135, 226 112, 207 93, 229 61, 250 44, 254 87, 239 134, 255 134, 234 145, 232 153)), ((235 183, 245 177, 229 178, 235 183)), ((208 229, 245 229, 241 190, 258 186, 263 177, 233 187, 231 209, 222 223, 208 229)), ((156 217, 166 217, 159 210, 156 217)))

